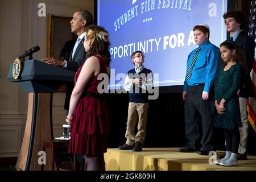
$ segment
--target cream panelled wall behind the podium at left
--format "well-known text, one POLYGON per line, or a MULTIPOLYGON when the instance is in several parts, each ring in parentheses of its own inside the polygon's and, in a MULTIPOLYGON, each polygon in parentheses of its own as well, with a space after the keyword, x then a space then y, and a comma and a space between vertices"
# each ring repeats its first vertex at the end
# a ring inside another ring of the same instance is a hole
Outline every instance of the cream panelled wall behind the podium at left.
MULTIPOLYGON (((47 16, 38 16, 38 4, 46 4, 46 14, 73 16, 79 9, 93 14, 93 0, 0 0, 0 158, 18 156, 26 125, 28 93, 7 80, 10 64, 27 49, 39 46, 33 54, 47 56, 47 16)), ((65 92, 53 94, 53 133, 62 135, 65 123, 65 92)))

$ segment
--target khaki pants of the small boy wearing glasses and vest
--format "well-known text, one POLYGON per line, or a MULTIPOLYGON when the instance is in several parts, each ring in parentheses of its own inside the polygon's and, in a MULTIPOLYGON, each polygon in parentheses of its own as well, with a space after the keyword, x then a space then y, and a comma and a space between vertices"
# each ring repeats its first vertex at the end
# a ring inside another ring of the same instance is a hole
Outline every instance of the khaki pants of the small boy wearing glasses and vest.
POLYGON ((135 141, 143 144, 146 136, 148 103, 130 102, 128 107, 128 118, 125 137, 126 144, 132 146, 135 141), (134 129, 138 121, 138 133, 135 135, 134 129))

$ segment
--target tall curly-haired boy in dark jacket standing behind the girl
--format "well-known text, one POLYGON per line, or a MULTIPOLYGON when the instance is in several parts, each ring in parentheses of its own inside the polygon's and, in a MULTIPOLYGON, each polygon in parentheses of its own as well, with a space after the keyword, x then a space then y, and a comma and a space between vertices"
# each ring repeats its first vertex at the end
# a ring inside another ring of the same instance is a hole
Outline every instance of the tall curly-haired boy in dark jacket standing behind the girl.
POLYGON ((230 33, 230 40, 237 43, 245 54, 247 61, 247 74, 242 80, 242 85, 239 92, 239 103, 242 127, 240 128, 240 146, 237 154, 237 160, 246 160, 246 146, 248 136, 248 114, 246 111, 247 100, 249 97, 254 97, 253 84, 251 82, 250 72, 254 63, 254 40, 250 36, 242 32, 245 24, 245 16, 241 11, 229 11, 223 15, 225 19, 226 30, 230 33))

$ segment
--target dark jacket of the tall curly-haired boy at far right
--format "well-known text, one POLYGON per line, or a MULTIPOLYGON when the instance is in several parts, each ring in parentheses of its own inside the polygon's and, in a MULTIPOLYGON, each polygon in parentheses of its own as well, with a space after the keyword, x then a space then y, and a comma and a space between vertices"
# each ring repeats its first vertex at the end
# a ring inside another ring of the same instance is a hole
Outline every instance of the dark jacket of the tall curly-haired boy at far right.
POLYGON ((254 40, 250 36, 241 32, 235 42, 245 53, 247 61, 247 75, 242 81, 239 97, 254 97, 253 83, 251 82, 250 72, 254 64, 254 40))

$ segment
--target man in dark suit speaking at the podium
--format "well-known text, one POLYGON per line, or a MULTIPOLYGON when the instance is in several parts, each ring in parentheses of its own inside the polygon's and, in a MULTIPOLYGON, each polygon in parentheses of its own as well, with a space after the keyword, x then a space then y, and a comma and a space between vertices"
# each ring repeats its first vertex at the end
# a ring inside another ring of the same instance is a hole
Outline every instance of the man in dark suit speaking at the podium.
MULTIPOLYGON (((93 23, 93 16, 87 10, 78 10, 74 13, 73 19, 71 20, 71 32, 78 36, 75 46, 73 47, 71 54, 69 56, 69 60, 57 60, 52 57, 47 57, 42 61, 47 64, 56 65, 58 67, 67 68, 71 71, 76 72, 82 63, 84 63, 86 59, 86 52, 84 49, 84 36, 86 34, 86 27, 93 23)), ((64 109, 69 109, 69 100, 71 97, 72 90, 74 88, 74 82, 67 82, 66 87, 66 97, 65 97, 65 105, 64 109)), ((82 168, 82 155, 77 155, 78 168, 82 168)))

